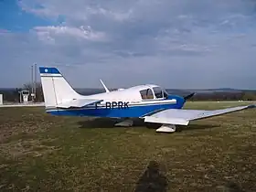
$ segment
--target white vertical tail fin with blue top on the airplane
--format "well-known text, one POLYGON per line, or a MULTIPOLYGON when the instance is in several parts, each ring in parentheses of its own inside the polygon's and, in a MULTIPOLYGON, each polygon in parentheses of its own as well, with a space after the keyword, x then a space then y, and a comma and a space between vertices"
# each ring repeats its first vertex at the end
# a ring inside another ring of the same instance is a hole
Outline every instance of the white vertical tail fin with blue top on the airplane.
POLYGON ((56 107, 61 102, 80 98, 80 94, 72 89, 59 69, 39 67, 39 72, 46 108, 56 107))

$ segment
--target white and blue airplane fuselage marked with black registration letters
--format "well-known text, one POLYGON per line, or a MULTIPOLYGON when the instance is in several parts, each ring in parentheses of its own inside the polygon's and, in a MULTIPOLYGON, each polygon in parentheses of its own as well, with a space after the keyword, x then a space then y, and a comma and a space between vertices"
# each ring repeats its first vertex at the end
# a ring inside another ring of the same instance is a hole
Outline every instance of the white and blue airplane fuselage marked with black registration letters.
POLYGON ((54 115, 69 116, 97 116, 113 118, 143 117, 152 112, 166 109, 181 109, 185 103, 184 98, 176 95, 166 95, 163 98, 142 99, 139 90, 151 89, 150 86, 135 86, 121 91, 103 92, 86 99, 104 100, 100 103, 87 105, 83 108, 58 109, 48 108, 47 112, 54 115))

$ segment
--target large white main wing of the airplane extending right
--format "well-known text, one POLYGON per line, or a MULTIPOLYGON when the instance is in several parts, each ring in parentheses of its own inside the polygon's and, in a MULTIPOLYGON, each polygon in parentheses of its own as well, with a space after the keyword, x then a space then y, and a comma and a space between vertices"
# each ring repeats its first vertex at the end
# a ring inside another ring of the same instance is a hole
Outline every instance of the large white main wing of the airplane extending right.
POLYGON ((212 111, 168 109, 161 112, 156 112, 149 116, 144 116, 144 122, 187 125, 190 121, 193 120, 204 119, 228 112, 237 112, 240 110, 250 109, 254 107, 256 107, 256 105, 239 106, 212 111))

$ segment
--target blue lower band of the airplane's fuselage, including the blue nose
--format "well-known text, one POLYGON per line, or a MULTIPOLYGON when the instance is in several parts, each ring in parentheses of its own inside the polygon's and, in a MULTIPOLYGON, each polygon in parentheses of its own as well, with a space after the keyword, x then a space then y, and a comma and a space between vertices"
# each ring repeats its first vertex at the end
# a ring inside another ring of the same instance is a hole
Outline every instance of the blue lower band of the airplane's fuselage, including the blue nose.
POLYGON ((167 100, 176 99, 176 103, 140 105, 128 107, 125 109, 118 108, 83 108, 76 110, 49 110, 48 113, 53 115, 65 116, 97 116, 97 117, 142 117, 144 114, 163 109, 181 109, 185 103, 184 99, 179 96, 168 96, 167 100))

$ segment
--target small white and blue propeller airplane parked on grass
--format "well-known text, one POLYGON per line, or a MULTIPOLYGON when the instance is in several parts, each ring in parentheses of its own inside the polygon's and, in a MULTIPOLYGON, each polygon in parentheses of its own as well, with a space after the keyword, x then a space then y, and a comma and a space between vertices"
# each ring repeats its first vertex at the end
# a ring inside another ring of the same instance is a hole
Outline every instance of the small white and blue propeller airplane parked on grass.
POLYGON ((161 124, 156 132, 172 133, 176 125, 217 116, 228 112, 250 109, 255 105, 238 106, 213 111, 184 110, 186 97, 168 94, 154 85, 138 85, 127 89, 109 91, 101 80, 105 92, 81 95, 69 85, 57 68, 39 67, 46 112, 52 115, 95 116, 123 119, 116 126, 133 126, 133 119, 144 123, 161 124))

